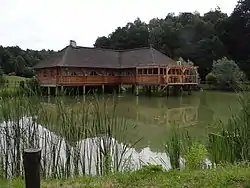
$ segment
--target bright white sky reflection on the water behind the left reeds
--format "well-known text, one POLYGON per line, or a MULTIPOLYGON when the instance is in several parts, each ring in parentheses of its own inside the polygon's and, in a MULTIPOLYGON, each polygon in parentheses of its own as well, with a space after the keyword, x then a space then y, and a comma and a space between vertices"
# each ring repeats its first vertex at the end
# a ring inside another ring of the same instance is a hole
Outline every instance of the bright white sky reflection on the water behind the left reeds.
POLYGON ((42 173, 45 177, 69 177, 72 175, 102 175, 105 145, 110 145, 112 171, 136 170, 143 164, 161 164, 170 169, 169 158, 165 153, 152 152, 144 148, 137 152, 135 148, 118 143, 113 138, 87 138, 69 143, 64 138, 36 124, 34 119, 24 117, 17 122, 0 124, 0 154, 4 172, 13 176, 17 169, 21 171, 22 150, 28 147, 42 149, 42 173), (15 137, 17 129, 19 137, 15 137), (13 136, 11 136, 13 135, 13 136), (18 163, 17 163, 18 162, 18 163))

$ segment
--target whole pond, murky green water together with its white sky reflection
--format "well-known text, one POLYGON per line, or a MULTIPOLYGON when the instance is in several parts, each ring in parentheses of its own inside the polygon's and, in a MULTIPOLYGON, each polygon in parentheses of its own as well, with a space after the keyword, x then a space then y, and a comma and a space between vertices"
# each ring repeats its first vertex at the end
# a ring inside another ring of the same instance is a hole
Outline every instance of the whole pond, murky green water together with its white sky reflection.
POLYGON ((107 163, 118 171, 147 163, 163 164, 169 169, 165 145, 172 126, 202 141, 208 132, 216 131, 217 120, 226 122, 239 110, 237 94, 207 91, 169 98, 124 94, 118 98, 107 95, 98 99, 81 96, 2 101, 1 116, 10 121, 0 124, 0 164, 5 176, 12 177, 22 171, 22 150, 41 147, 45 177, 101 175, 107 163), (111 114, 115 109, 117 121, 99 118, 99 112, 92 111, 87 122, 84 112, 78 109, 91 103, 105 106, 102 110, 111 114), (62 111, 60 116, 58 111, 62 111), (95 134, 83 137, 83 125, 95 130, 95 134), (103 132, 110 132, 112 137, 103 132))

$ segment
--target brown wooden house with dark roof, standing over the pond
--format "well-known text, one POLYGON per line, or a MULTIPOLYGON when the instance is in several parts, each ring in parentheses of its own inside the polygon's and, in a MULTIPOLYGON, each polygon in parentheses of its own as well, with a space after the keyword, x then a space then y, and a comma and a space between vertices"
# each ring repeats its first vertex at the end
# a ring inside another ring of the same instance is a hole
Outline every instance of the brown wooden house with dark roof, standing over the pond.
POLYGON ((151 47, 111 50, 70 45, 35 67, 41 86, 197 85, 197 67, 151 47))

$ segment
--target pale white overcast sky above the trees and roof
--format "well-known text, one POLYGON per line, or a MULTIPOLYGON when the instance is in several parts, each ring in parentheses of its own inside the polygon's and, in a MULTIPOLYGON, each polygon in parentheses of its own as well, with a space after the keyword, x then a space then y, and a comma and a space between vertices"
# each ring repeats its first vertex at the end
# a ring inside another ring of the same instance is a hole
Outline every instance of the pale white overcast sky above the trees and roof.
POLYGON ((215 9, 230 14, 237 0, 0 0, 0 45, 60 50, 75 40, 92 47, 137 17, 148 22, 170 13, 201 14, 215 9))

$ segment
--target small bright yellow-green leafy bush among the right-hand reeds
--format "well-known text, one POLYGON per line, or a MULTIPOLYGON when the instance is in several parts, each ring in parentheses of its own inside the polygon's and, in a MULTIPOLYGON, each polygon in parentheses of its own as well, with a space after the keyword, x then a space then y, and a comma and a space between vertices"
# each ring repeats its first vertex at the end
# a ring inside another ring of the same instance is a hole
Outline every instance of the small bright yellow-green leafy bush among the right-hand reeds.
POLYGON ((204 159, 208 156, 206 147, 198 142, 192 143, 188 152, 184 155, 186 167, 189 169, 197 169, 202 167, 204 159))

